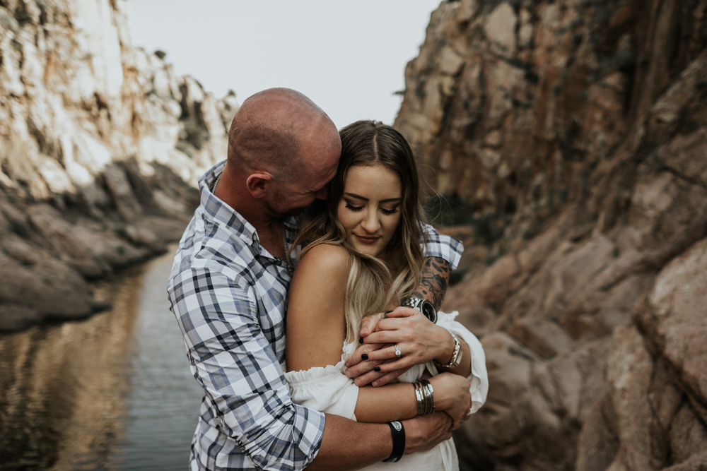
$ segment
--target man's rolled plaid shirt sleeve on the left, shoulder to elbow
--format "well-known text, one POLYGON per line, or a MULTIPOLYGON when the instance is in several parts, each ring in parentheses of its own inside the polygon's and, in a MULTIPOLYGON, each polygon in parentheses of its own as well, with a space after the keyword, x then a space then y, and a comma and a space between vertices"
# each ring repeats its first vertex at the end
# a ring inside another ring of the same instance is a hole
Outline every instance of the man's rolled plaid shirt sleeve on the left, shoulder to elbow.
POLYGON ((192 374, 218 410, 219 431, 259 469, 308 466, 320 448, 325 415, 292 402, 247 280, 192 267, 173 279, 173 288, 170 302, 192 374))

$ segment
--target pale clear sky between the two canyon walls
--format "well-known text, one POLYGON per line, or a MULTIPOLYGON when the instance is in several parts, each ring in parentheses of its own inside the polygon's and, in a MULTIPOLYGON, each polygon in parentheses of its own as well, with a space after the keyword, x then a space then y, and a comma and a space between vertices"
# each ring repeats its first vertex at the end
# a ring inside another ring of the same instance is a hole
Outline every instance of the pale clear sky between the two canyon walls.
POLYGON ((222 97, 287 87, 341 128, 392 124, 440 0, 129 0, 132 42, 222 97))

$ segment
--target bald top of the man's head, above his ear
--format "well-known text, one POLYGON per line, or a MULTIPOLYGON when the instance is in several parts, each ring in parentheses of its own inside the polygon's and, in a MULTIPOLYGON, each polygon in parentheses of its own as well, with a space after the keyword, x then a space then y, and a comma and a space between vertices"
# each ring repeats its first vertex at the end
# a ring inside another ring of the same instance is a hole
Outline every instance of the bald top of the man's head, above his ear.
POLYGON ((340 151, 339 132, 320 107, 295 90, 271 88, 245 100, 233 118, 228 162, 289 183, 306 178, 337 146, 340 151))

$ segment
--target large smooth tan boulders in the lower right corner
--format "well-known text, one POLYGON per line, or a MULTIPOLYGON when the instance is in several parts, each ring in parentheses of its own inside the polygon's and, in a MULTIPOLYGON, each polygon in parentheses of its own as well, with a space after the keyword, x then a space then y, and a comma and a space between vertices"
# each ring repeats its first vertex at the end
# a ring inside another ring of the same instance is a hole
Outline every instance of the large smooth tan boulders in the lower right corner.
POLYGON ((636 326, 617 328, 607 393, 580 436, 579 471, 707 465, 706 283, 703 239, 660 271, 636 326))

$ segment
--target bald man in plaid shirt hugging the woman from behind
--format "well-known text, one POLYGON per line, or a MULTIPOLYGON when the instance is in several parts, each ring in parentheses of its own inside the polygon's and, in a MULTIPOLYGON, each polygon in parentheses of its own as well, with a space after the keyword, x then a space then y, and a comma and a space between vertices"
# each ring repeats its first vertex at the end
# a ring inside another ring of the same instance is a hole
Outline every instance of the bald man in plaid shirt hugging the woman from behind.
MULTIPOLYGON (((286 251, 296 230, 290 216, 326 198, 340 153, 336 126, 319 107, 293 90, 265 90, 245 100, 233 119, 226 164, 199 181, 201 204, 168 282, 192 373, 204 388, 191 470, 356 469, 391 453, 387 424, 352 422, 293 404, 283 377, 293 268, 286 251)), ((428 247, 428 254, 453 263, 460 256, 458 247, 432 245, 436 249, 428 247)), ((433 260, 441 263, 440 273, 429 268, 421 290, 439 301, 448 265, 433 260)), ((373 330, 367 325, 365 334, 373 330)), ((395 340, 395 332, 390 335, 395 340)), ((450 345, 425 345, 421 335, 417 340, 420 361, 438 356, 441 348, 452 351, 450 345)), ((356 365, 356 374, 365 373, 358 383, 399 374, 385 364, 369 371, 378 364, 356 365)), ((405 453, 449 439, 452 428, 441 412, 403 424, 405 453)))

